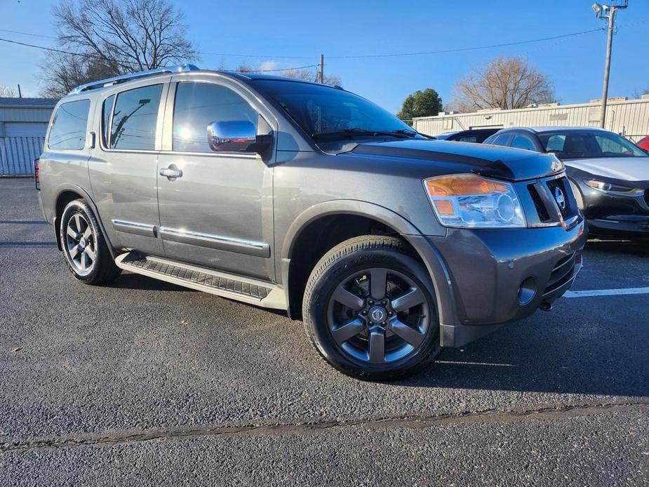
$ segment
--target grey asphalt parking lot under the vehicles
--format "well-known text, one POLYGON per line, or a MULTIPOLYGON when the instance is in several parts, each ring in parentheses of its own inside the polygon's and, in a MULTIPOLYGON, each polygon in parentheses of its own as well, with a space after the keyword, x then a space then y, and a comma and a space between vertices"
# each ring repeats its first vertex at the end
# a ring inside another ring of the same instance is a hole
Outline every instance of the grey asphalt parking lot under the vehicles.
MULTIPOLYGON (((573 290, 649 287, 646 243, 584 264, 573 290)), ((0 180, 1 485, 646 485, 648 347, 649 294, 563 298, 359 382, 281 314, 74 281, 33 180, 0 180)))

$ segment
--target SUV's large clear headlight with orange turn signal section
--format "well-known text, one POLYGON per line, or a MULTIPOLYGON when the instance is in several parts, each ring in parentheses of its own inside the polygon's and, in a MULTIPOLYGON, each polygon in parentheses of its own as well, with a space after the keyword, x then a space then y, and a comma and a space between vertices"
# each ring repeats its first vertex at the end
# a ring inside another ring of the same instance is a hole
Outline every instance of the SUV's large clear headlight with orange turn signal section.
POLYGON ((525 215, 508 182, 475 174, 424 180, 424 188, 446 227, 525 227, 525 215))

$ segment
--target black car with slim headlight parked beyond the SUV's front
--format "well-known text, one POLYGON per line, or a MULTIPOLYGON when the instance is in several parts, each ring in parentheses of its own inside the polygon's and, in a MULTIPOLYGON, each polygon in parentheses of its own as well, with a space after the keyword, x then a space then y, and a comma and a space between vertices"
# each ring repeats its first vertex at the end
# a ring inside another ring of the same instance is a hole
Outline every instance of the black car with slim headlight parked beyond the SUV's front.
POLYGON ((649 156, 621 135, 593 127, 506 128, 484 143, 561 159, 592 236, 649 236, 649 156))

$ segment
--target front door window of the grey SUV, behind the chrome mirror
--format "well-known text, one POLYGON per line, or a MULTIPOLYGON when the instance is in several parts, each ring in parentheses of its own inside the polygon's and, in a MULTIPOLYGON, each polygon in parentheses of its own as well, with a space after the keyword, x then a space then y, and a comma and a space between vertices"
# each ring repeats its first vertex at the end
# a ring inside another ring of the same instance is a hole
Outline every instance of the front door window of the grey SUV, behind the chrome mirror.
POLYGON ((173 107, 173 150, 212 152, 207 127, 213 121, 250 121, 259 114, 246 100, 225 86, 211 83, 179 83, 173 107))

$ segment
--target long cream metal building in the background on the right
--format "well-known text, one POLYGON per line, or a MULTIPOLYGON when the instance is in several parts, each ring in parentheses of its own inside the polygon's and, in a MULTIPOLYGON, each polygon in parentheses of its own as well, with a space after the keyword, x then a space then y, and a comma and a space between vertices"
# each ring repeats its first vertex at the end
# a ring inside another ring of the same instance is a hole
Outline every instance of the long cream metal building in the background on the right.
MULTIPOLYGON (((428 135, 462 131, 469 128, 505 128, 514 126, 599 126, 599 100, 577 105, 531 106, 514 110, 485 109, 473 113, 446 112, 438 116, 423 116, 413 121, 415 130, 428 135)), ((606 128, 638 141, 649 135, 649 95, 638 100, 609 98, 606 108, 606 128)))

